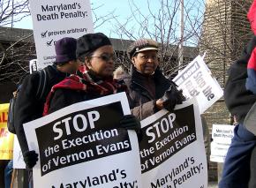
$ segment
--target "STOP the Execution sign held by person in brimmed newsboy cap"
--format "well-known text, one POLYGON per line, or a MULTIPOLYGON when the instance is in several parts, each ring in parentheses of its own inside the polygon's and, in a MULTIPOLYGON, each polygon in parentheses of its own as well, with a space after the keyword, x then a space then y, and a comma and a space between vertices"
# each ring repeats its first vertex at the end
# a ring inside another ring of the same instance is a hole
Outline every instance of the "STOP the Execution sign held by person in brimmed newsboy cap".
POLYGON ((144 188, 206 188, 205 154, 199 109, 195 100, 162 109, 141 121, 139 154, 144 188))

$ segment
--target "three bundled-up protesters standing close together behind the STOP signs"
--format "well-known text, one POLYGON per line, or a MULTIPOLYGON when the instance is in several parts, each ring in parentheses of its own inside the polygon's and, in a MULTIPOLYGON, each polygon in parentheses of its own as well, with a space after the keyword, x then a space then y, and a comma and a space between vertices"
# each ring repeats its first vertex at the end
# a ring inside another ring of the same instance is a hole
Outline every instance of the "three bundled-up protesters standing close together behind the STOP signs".
MULTIPOLYGON (((113 77, 114 49, 105 34, 85 34, 77 40, 64 37, 56 41, 55 49, 56 62, 43 69, 45 83, 41 85, 38 71, 26 76, 15 104, 15 131, 30 175, 38 154, 28 149, 23 129, 26 122, 76 102, 125 92, 132 115, 124 116, 119 125, 139 133, 140 120, 163 108, 173 110, 184 101, 176 84, 160 70, 156 41, 139 39, 132 43, 128 49, 132 71, 125 72, 122 79, 113 77), (35 95, 38 86, 45 86, 40 98, 35 95)), ((33 179, 28 182, 33 187, 33 179)), ((9 182, 5 184, 10 187, 9 182)))

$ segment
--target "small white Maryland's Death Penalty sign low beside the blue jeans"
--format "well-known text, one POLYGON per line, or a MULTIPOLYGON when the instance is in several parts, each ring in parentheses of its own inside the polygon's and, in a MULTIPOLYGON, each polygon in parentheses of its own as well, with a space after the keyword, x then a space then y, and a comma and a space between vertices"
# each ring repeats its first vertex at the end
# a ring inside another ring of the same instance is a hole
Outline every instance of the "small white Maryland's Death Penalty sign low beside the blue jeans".
POLYGON ((234 136, 234 125, 213 124, 211 143, 211 162, 224 162, 234 136))

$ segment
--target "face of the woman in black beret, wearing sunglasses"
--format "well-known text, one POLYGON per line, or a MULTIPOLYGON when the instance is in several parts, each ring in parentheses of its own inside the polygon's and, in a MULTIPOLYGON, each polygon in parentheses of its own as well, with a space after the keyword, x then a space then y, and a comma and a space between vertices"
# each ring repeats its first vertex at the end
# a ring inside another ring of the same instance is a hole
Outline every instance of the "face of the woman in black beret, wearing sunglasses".
POLYGON ((101 78, 111 76, 114 71, 113 47, 106 45, 96 49, 93 55, 87 59, 87 67, 101 78))

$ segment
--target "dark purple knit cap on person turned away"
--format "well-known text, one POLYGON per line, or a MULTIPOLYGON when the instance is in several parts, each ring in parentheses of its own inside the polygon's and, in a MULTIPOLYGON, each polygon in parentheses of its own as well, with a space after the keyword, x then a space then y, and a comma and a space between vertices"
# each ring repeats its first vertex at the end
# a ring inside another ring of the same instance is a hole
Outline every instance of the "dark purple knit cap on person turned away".
POLYGON ((77 40, 72 37, 64 37, 55 44, 56 64, 69 62, 76 59, 77 40))

